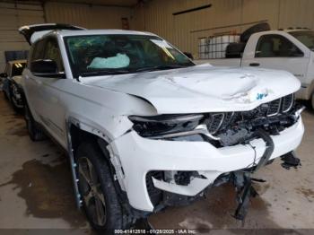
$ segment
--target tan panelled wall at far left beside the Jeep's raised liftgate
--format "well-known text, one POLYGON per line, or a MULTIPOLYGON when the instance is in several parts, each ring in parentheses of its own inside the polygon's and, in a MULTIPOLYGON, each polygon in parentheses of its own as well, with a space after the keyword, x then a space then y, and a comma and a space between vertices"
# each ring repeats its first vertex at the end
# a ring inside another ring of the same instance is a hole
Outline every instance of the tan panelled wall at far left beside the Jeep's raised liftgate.
POLYGON ((4 51, 29 48, 17 29, 24 24, 44 22, 44 13, 39 2, 0 3, 0 9, 0 71, 3 71, 4 51))

